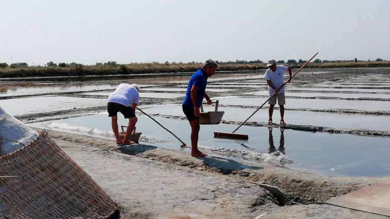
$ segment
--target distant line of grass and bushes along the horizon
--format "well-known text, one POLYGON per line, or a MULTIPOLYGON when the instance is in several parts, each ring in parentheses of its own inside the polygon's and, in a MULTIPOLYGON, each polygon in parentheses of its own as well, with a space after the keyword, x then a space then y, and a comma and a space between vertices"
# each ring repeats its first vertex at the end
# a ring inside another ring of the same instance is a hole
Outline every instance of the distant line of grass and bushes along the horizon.
MULTIPOLYGON (((287 65, 298 68, 303 64, 299 60, 288 60, 287 65)), ((283 60, 278 61, 284 64, 283 60)), ((0 63, 0 78, 19 77, 58 77, 58 76, 102 76, 102 75, 129 75, 167 72, 193 72, 199 69, 202 63, 131 63, 117 64, 115 61, 96 63, 95 65, 83 65, 72 62, 53 63, 48 62, 45 66, 28 66, 27 63, 0 63)), ((308 64, 309 68, 332 68, 332 67, 390 67, 390 61, 327 61, 315 60, 308 64)), ((219 62, 218 71, 237 70, 261 70, 266 69, 266 64, 257 61, 219 62)))

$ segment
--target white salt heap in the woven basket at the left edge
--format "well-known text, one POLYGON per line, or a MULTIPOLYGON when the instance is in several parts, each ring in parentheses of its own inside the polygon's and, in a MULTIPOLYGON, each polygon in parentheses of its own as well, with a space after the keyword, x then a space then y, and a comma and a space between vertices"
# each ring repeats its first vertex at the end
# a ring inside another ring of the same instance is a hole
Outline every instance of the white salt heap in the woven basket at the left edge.
POLYGON ((37 137, 38 132, 8 115, 0 106, 0 155, 11 154, 37 137))

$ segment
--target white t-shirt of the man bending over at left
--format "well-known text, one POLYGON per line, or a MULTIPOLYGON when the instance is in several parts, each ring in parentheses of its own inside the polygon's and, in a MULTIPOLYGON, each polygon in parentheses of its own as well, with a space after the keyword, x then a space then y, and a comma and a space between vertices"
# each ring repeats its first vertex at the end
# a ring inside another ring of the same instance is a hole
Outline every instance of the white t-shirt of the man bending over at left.
POLYGON ((138 104, 140 94, 137 89, 129 84, 120 84, 118 88, 108 96, 108 102, 115 102, 125 106, 131 106, 132 103, 138 104))

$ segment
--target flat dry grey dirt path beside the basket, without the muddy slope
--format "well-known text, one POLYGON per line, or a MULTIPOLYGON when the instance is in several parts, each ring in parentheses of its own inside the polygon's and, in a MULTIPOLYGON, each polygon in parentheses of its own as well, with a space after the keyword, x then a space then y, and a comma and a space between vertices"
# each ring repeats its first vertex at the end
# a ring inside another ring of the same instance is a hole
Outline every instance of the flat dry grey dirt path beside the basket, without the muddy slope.
POLYGON ((242 180, 56 142, 122 206, 121 218, 254 218, 280 208, 268 191, 242 180))

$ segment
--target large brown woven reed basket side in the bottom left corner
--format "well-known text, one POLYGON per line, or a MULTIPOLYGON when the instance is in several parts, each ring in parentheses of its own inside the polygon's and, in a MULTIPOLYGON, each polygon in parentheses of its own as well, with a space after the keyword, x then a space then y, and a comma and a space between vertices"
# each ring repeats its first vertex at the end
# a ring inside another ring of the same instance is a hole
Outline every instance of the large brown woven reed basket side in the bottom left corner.
POLYGON ((117 205, 41 131, 0 157, 0 218, 107 218, 117 205))

